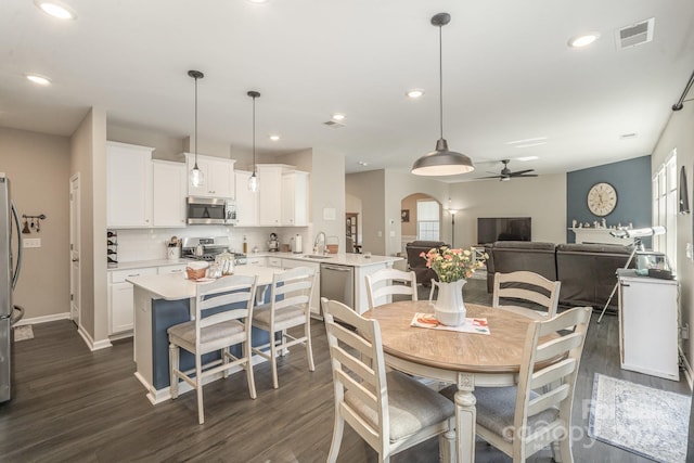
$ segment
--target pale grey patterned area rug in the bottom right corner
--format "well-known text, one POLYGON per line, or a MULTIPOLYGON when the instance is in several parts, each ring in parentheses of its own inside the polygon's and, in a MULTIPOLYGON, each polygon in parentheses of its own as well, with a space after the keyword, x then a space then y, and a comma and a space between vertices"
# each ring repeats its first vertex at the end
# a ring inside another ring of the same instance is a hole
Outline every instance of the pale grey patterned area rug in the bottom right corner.
POLYGON ((684 462, 690 401, 595 373, 588 435, 657 462, 684 462))

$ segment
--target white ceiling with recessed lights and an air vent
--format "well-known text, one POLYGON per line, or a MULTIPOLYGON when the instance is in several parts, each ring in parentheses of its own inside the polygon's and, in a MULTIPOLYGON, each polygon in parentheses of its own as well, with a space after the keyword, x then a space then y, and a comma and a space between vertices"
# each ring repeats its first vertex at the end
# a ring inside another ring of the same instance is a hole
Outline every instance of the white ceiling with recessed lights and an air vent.
POLYGON ((511 169, 554 173, 648 155, 694 68, 691 0, 63 2, 76 20, 0 2, 0 126, 69 136, 98 106, 110 123, 184 138, 194 125, 187 73, 198 69, 201 141, 247 150, 254 89, 258 152, 339 152, 348 172, 409 170, 434 150, 439 36, 429 20, 439 12, 452 17, 444 136, 477 165, 454 180, 498 171, 502 158, 536 155, 511 169), (615 31, 650 17, 654 40, 618 50, 615 31), (584 31, 601 37, 569 49, 584 31), (30 72, 52 85, 30 83, 30 72), (426 94, 408 100, 411 88, 426 94), (335 112, 347 116, 339 129, 323 125, 335 112), (547 144, 507 144, 537 137, 547 144))

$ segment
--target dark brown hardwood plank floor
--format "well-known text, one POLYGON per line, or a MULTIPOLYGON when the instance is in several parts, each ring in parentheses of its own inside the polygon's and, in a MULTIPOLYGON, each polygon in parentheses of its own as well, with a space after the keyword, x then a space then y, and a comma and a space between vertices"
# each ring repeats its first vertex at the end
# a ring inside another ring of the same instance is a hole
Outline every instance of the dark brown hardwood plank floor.
MULTIPOLYGON (((465 300, 488 303, 484 281, 465 285, 465 300)), ((428 290, 422 290, 422 298, 428 290)), ((588 403, 595 372, 680 394, 684 380, 660 380, 619 368, 617 318, 605 316, 588 333, 576 388, 573 425, 576 462, 647 462, 587 436, 588 403)), ((0 406, 2 462, 324 462, 333 429, 333 389, 322 322, 313 323, 316 372, 305 351, 280 359, 280 388, 267 363, 257 365, 258 398, 245 375, 205 387, 205 424, 193 394, 152 406, 133 376, 132 342, 90 352, 69 321, 34 325, 33 339, 14 344, 13 399, 0 406)), ((438 442, 402 452, 396 462, 436 462, 438 442)), ((484 442, 478 462, 509 462, 484 442)), ((375 453, 346 427, 339 462, 373 462, 375 453)), ((550 461, 547 454, 532 462, 550 461)))

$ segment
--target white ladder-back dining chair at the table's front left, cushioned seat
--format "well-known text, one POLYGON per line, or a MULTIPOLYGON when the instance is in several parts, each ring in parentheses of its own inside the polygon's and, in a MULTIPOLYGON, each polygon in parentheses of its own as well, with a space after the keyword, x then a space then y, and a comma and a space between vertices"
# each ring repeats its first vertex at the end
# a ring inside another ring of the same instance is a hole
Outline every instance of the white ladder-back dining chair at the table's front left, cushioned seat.
POLYGON ((452 454, 453 403, 416 380, 386 370, 377 321, 336 300, 322 303, 335 397, 327 462, 337 460, 345 423, 378 453, 380 462, 434 436, 447 449, 439 458, 452 454))

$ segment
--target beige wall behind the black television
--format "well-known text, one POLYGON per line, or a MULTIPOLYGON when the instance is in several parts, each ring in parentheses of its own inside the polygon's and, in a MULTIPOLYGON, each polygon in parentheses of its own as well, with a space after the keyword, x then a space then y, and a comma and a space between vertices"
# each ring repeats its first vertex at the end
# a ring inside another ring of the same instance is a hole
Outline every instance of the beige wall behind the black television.
POLYGON ((450 196, 457 247, 477 244, 478 217, 531 217, 532 241, 566 242, 565 173, 453 183, 450 196))

